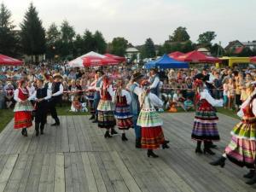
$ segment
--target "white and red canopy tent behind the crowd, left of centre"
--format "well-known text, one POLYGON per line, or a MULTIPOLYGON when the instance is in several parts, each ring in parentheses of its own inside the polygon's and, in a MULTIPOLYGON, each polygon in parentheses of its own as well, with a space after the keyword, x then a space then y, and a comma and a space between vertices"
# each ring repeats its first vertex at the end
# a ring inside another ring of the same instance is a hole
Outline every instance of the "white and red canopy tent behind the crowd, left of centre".
POLYGON ((70 67, 97 67, 117 65, 119 62, 109 58, 108 56, 90 51, 87 54, 79 56, 73 61, 69 61, 68 64, 70 67))

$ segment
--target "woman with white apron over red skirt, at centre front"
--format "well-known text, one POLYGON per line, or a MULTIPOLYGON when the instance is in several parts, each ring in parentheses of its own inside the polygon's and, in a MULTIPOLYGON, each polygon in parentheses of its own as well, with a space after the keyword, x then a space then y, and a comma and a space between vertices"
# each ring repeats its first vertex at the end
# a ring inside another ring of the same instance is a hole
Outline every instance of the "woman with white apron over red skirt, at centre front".
POLYGON ((156 148, 169 148, 165 140, 164 133, 161 125, 162 120, 155 111, 155 107, 161 108, 163 102, 158 96, 153 93, 149 93, 149 82, 143 80, 142 84, 143 92, 139 95, 139 102, 141 105, 141 112, 137 119, 137 125, 142 127, 142 148, 148 149, 148 157, 152 156, 157 158, 158 155, 154 154, 153 150, 156 148))

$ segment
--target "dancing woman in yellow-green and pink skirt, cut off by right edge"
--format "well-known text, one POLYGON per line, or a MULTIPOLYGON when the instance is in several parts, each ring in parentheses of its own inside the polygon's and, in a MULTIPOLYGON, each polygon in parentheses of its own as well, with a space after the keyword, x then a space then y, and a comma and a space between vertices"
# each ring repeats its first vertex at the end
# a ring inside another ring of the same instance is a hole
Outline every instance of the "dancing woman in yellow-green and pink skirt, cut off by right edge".
POLYGON ((237 166, 246 166, 250 172, 243 177, 251 178, 247 184, 256 183, 256 91, 247 98, 237 113, 241 117, 239 122, 231 131, 232 139, 225 148, 224 154, 218 160, 211 162, 212 166, 224 167, 228 158, 237 166))

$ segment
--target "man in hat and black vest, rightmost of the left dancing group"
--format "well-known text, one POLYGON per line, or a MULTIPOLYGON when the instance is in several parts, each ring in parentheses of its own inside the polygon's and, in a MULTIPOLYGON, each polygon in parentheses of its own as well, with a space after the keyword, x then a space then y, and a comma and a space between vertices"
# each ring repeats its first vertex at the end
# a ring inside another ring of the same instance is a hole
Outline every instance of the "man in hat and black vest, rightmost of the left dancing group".
POLYGON ((54 82, 51 85, 52 96, 49 102, 49 111, 53 119, 55 119, 55 123, 52 126, 59 126, 60 119, 58 118, 58 114, 56 111, 56 103, 61 102, 61 96, 63 94, 63 85, 61 84, 61 74, 55 73, 53 75, 54 82))

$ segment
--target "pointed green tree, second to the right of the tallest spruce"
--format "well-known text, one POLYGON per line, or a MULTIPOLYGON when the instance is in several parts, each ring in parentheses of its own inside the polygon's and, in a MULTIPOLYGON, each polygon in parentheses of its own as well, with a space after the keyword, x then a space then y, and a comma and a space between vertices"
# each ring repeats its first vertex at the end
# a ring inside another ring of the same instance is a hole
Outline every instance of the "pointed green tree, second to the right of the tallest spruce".
POLYGON ((74 38, 76 32, 67 20, 61 23, 60 55, 62 59, 73 58, 74 38))

